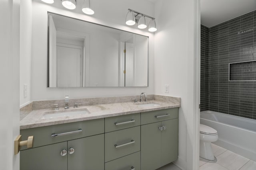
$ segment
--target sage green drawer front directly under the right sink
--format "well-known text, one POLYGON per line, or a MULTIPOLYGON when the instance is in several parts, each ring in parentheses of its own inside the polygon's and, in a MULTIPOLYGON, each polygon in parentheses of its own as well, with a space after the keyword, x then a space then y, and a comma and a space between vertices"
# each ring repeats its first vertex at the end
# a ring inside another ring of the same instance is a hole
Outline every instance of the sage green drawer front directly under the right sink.
POLYGON ((141 125, 178 118, 178 107, 141 113, 141 125))

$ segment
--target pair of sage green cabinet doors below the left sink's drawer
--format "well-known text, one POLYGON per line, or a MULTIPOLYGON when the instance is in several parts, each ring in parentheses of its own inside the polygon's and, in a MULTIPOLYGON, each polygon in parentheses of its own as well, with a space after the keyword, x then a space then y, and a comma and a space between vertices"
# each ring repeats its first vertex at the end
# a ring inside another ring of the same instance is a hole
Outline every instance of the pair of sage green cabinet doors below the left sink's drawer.
POLYGON ((20 170, 103 169, 104 134, 20 151, 20 170))

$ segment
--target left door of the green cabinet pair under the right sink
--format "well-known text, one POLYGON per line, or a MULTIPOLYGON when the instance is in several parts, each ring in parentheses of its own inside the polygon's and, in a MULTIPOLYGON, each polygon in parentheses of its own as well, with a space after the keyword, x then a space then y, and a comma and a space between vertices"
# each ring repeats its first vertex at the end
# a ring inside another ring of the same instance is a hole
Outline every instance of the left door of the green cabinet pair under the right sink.
POLYGON ((161 122, 141 126, 141 170, 161 167, 161 122))

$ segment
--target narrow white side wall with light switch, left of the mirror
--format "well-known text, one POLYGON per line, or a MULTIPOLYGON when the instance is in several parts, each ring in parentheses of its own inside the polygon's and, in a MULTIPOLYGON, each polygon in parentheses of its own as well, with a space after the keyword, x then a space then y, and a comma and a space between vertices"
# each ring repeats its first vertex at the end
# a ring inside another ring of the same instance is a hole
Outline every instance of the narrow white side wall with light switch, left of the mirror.
POLYGON ((20 33, 20 105, 23 105, 31 100, 32 0, 20 4, 20 33), (26 98, 24 84, 28 85, 26 98))

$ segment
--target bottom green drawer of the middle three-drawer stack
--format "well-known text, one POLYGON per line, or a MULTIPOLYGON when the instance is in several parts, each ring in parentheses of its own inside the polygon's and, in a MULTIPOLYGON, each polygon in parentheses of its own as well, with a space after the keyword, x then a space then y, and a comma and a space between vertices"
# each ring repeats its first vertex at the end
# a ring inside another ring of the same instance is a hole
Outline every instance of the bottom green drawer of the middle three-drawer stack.
POLYGON ((140 152, 105 163, 105 170, 140 170, 140 152))

